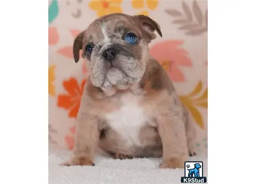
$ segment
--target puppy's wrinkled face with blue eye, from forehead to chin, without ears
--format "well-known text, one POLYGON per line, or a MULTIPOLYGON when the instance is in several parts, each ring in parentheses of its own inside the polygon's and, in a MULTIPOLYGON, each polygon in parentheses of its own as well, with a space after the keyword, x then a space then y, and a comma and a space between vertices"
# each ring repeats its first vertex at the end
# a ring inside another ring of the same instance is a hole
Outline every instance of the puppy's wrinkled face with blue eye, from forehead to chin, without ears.
POLYGON ((126 89, 138 83, 146 69, 150 40, 135 16, 112 14, 93 21, 82 44, 92 84, 102 89, 126 89))

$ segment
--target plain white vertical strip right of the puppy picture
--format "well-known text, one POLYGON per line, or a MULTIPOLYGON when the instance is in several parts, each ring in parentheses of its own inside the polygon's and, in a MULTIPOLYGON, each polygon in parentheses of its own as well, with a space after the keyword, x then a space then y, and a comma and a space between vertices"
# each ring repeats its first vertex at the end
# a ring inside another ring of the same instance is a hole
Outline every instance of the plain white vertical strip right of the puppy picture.
POLYGON ((207 180, 213 184, 255 182, 255 5, 208 1, 207 180))

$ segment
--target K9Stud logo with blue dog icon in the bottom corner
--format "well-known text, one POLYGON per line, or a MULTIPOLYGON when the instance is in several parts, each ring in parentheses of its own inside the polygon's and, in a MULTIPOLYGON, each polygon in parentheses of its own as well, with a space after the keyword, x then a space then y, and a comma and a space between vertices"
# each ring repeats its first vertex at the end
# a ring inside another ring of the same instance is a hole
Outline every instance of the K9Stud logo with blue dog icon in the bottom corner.
POLYGON ((182 183, 206 183, 207 179, 203 176, 202 161, 185 161, 185 177, 182 183))

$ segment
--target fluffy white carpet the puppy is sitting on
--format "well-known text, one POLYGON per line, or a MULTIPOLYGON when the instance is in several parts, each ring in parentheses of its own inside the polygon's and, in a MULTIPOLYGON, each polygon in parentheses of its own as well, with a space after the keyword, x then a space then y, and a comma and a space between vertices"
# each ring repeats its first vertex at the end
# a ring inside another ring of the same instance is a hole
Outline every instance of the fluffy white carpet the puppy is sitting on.
MULTIPOLYGON (((158 169, 160 158, 113 160, 97 157, 95 166, 59 166, 70 154, 70 151, 49 151, 49 184, 180 184, 180 177, 184 176, 183 169, 158 169)), ((203 161, 204 176, 207 176, 207 156, 195 156, 189 160, 203 161)))

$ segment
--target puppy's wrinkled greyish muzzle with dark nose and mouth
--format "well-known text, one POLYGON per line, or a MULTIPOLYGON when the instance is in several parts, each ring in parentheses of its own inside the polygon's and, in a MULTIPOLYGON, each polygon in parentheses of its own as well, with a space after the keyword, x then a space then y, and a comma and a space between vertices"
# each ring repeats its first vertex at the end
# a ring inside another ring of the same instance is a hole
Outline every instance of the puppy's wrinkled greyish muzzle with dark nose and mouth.
POLYGON ((126 88, 138 83, 144 73, 143 66, 129 48, 108 43, 92 59, 92 84, 100 88, 126 88))

